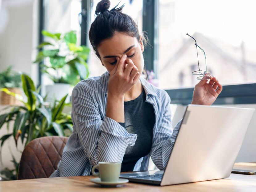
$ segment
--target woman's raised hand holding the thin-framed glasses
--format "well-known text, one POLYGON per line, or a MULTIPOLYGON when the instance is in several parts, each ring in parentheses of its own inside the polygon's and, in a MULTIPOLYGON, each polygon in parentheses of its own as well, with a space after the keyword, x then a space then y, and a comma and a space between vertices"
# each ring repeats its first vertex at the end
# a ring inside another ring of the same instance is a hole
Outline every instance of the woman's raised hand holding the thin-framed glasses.
POLYGON ((216 77, 211 76, 210 73, 207 73, 206 75, 210 76, 210 81, 200 80, 200 82, 196 84, 191 104, 211 105, 221 93, 222 85, 216 77), (207 83, 208 81, 209 83, 207 83))

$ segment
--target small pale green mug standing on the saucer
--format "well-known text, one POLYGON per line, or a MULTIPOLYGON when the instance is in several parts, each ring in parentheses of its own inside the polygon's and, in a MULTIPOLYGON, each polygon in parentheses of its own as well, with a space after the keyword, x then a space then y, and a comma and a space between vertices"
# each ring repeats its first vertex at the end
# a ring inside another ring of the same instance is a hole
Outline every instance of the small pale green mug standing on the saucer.
POLYGON ((98 165, 93 166, 92 174, 100 177, 101 181, 116 182, 118 181, 121 172, 121 163, 99 162, 98 165), (98 173, 95 169, 99 170, 98 173))

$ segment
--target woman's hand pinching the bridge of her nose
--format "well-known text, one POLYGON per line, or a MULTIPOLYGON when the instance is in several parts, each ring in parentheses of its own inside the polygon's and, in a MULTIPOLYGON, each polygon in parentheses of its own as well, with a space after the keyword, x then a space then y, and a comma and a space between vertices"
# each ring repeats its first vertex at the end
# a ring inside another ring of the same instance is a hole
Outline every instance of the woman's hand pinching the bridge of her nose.
POLYGON ((117 59, 117 64, 110 72, 108 82, 108 94, 112 96, 124 96, 124 94, 132 88, 140 77, 138 68, 131 59, 127 59, 124 54, 121 59, 117 59), (125 67, 125 65, 127 66, 125 67))

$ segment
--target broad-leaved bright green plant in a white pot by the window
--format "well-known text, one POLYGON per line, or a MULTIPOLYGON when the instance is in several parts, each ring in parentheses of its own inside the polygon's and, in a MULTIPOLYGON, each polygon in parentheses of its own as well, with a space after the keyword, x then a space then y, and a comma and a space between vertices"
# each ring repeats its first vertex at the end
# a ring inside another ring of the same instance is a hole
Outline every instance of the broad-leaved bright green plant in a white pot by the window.
POLYGON ((50 33, 42 31, 43 36, 49 41, 44 41, 38 46, 39 51, 35 63, 45 61, 42 72, 54 82, 54 85, 47 85, 46 92, 49 100, 55 96, 60 99, 68 93, 70 85, 88 78, 89 70, 87 58, 89 48, 76 45, 76 31, 65 34, 50 33))

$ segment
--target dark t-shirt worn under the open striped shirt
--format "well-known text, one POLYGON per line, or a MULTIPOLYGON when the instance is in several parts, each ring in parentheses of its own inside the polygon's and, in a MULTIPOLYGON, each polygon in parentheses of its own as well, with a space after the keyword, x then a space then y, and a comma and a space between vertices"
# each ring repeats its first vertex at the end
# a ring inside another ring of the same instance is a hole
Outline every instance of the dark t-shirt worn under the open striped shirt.
POLYGON ((155 125, 155 111, 146 102, 146 93, 124 102, 125 123, 120 123, 130 134, 137 134, 134 146, 128 145, 122 161, 121 172, 133 171, 136 162, 150 153, 155 125))

